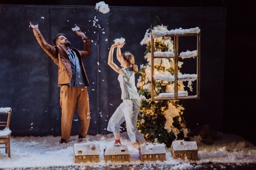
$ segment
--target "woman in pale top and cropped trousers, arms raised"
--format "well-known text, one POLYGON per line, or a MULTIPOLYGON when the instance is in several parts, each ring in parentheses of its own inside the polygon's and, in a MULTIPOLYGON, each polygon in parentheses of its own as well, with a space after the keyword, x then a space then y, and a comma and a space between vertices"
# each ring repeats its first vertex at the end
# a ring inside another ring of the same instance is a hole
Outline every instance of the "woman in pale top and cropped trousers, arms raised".
POLYGON ((134 57, 130 52, 124 52, 121 54, 121 48, 125 43, 113 44, 110 48, 108 55, 108 65, 119 73, 118 81, 122 90, 121 103, 115 113, 112 115, 108 122, 107 130, 114 133, 115 144, 120 143, 120 131, 119 126, 125 121, 127 133, 129 138, 134 143, 136 139, 141 143, 146 143, 143 134, 137 129, 137 118, 140 110, 140 100, 135 86, 134 73, 138 72, 138 66, 134 64, 134 57), (119 68, 113 62, 114 48, 117 47, 116 56, 117 60, 121 63, 119 68))

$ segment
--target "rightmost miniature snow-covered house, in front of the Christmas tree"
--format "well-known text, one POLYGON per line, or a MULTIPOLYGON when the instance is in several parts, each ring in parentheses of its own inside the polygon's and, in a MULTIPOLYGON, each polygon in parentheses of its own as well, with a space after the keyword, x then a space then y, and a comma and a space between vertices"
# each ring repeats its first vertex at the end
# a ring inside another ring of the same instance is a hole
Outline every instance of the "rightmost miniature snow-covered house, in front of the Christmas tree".
POLYGON ((173 159, 181 158, 185 160, 198 160, 197 157, 197 142, 195 141, 184 141, 176 140, 171 144, 171 154, 173 159))

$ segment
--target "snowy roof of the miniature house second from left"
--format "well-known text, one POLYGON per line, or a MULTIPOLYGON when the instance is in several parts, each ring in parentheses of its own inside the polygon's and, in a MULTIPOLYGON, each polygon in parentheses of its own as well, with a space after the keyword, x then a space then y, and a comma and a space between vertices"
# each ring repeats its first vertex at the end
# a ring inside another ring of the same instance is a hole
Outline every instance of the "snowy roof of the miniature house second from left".
POLYGON ((111 145, 107 146, 105 150, 105 155, 129 155, 130 152, 128 150, 128 147, 126 145, 111 145))

